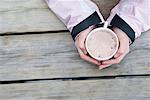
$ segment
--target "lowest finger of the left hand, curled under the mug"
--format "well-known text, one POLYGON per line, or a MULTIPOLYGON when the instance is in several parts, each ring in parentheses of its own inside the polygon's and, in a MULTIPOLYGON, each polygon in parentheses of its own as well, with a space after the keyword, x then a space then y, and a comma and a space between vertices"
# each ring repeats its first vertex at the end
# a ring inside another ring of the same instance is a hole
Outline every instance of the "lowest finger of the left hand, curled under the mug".
POLYGON ((78 52, 79 52, 80 57, 81 57, 83 60, 86 60, 86 61, 88 61, 88 62, 90 62, 90 63, 93 63, 93 64, 96 64, 96 65, 98 65, 98 66, 100 65, 99 61, 97 61, 97 60, 95 60, 95 59, 93 59, 93 58, 91 58, 91 57, 85 55, 85 54, 82 52, 82 50, 80 50, 80 48, 77 48, 77 49, 78 49, 78 52))

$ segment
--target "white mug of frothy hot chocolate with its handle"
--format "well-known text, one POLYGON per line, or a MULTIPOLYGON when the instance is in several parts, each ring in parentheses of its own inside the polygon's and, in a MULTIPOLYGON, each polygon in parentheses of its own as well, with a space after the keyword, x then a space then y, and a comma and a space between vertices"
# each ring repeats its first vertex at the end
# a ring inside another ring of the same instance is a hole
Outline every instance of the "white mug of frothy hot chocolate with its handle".
POLYGON ((92 58, 103 61, 116 54, 119 42, 117 35, 107 28, 107 23, 105 23, 104 27, 96 28, 88 34, 85 46, 92 58))

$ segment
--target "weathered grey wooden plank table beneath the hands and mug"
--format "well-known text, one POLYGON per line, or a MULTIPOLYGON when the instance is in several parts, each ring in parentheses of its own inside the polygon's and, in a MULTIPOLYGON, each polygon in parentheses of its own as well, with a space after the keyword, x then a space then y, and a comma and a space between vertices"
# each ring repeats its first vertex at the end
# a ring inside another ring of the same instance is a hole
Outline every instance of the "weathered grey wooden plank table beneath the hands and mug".
MULTIPOLYGON (((117 1, 94 0, 105 18, 117 1)), ((150 100, 150 31, 98 70, 42 0, 1 0, 0 100, 150 100)))

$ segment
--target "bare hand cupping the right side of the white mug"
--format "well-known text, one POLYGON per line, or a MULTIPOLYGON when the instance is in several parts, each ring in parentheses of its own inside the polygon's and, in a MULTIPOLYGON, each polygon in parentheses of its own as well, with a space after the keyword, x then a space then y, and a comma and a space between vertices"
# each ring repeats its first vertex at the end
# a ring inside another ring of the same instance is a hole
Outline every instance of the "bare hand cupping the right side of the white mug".
POLYGON ((109 67, 112 64, 119 64, 123 58, 129 53, 129 37, 119 28, 113 28, 119 39, 119 49, 113 59, 102 61, 100 69, 109 67))

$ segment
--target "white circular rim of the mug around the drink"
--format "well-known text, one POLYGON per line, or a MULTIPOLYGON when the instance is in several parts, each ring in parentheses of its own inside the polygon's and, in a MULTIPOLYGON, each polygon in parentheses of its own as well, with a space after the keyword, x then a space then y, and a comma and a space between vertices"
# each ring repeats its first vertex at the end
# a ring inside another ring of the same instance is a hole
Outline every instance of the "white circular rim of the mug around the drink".
POLYGON ((96 60, 99 60, 99 61, 103 61, 103 60, 108 60, 110 58, 112 58, 118 51, 118 47, 119 47, 119 39, 118 39, 118 36, 116 35, 115 32, 113 32, 111 29, 109 28, 105 28, 105 27, 100 27, 100 28, 96 28, 94 30, 92 30, 86 37, 86 40, 85 40, 85 47, 86 47, 86 50, 87 52, 90 54, 90 56, 96 60), (99 58, 99 57, 95 57, 94 55, 92 55, 92 53, 90 52, 90 50, 88 49, 88 45, 87 45, 87 41, 89 40, 89 37, 91 36, 91 34, 97 32, 97 31, 101 31, 101 30, 106 30, 106 31, 109 31, 116 39, 116 42, 117 42, 117 46, 115 48, 115 51, 108 57, 103 57, 103 58, 99 58))

